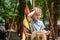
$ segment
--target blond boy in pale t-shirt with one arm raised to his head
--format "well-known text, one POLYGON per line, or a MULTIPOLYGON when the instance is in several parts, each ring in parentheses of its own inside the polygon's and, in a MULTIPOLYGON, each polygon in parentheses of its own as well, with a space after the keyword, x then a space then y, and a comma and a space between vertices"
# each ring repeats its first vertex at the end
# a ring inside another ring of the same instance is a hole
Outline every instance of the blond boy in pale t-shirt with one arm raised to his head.
MULTIPOLYGON (((44 24, 42 21, 40 21, 40 17, 41 17, 41 12, 42 10, 39 9, 39 8, 34 8, 33 11, 28 14, 28 21, 29 21, 29 24, 30 24, 30 29, 31 29, 31 33, 30 36, 32 36, 33 34, 35 34, 36 32, 34 32, 35 30, 36 31, 40 31, 40 30, 44 30, 41 35, 42 37, 42 40, 47 40, 46 39, 46 35, 50 34, 50 31, 46 31, 44 28, 44 24)), ((36 34, 35 34, 36 35, 36 34)), ((33 35, 34 36, 34 35, 33 35)))

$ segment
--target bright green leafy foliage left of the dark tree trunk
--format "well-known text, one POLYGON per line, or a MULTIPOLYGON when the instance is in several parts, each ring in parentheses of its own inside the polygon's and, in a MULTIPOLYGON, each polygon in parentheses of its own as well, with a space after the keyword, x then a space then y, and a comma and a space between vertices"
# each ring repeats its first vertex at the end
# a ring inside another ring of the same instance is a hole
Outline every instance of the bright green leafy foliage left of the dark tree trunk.
MULTIPOLYGON (((17 0, 1 0, 0 4, 0 21, 7 18, 16 17, 18 15, 17 12, 17 0)), ((2 21, 3 22, 3 21, 2 21)))

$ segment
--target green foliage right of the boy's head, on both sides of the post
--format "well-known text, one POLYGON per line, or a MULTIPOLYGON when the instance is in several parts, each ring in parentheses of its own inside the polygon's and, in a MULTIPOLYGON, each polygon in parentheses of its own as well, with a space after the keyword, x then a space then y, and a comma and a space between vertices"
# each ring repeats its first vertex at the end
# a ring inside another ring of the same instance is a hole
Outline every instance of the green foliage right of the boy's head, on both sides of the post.
POLYGON ((43 19, 44 17, 45 20, 48 20, 51 2, 54 2, 54 16, 57 17, 58 20, 60 19, 60 0, 35 0, 35 6, 42 9, 43 14, 41 18, 43 19))

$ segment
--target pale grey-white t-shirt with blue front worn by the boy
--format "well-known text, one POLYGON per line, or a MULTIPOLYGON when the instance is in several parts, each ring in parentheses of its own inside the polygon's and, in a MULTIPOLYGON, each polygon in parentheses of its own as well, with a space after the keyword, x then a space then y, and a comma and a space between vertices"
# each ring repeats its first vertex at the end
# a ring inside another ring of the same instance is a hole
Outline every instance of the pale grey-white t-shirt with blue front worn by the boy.
POLYGON ((31 20, 29 24, 30 24, 31 32, 33 32, 34 30, 39 31, 40 29, 45 28, 43 22, 40 20, 38 20, 38 21, 31 20))

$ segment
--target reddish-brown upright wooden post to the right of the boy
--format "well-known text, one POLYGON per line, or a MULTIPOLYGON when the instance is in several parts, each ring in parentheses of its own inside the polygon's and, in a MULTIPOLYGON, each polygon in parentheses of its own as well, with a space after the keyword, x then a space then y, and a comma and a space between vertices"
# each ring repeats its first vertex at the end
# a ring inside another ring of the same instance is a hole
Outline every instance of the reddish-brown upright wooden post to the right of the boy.
POLYGON ((50 29, 52 32, 52 40, 55 40, 55 32, 54 32, 54 2, 50 4, 50 29))

